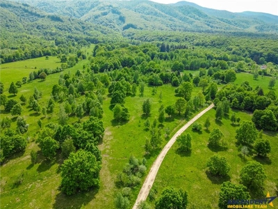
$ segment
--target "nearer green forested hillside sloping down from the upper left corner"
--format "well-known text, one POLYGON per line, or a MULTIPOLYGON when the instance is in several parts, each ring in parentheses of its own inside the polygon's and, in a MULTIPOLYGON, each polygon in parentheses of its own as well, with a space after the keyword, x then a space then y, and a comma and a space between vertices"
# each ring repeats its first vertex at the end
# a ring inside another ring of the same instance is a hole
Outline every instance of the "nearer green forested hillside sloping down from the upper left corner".
POLYGON ((1 1, 0 19, 2 49, 16 49, 23 42, 43 44, 57 37, 101 42, 104 38, 109 40, 107 34, 117 35, 100 24, 49 14, 26 3, 1 1))

